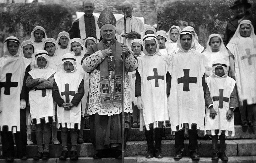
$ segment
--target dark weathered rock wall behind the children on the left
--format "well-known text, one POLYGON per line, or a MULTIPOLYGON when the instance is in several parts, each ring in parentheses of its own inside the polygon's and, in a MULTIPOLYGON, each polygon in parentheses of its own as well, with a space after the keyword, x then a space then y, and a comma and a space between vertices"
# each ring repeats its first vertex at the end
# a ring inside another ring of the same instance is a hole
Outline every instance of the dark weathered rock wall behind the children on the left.
POLYGON ((43 26, 47 37, 57 38, 72 25, 72 14, 63 6, 42 3, 0 4, 0 57, 3 41, 15 36, 20 41, 29 40, 35 26, 43 26))

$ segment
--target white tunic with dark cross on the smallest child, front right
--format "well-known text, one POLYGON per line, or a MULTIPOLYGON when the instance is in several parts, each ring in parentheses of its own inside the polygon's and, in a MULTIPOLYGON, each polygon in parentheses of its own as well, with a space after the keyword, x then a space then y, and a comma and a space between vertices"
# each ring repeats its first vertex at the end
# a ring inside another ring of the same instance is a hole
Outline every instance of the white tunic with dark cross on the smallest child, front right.
POLYGON ((213 108, 217 112, 217 115, 215 119, 210 118, 210 109, 206 109, 204 129, 205 134, 207 133, 207 130, 211 130, 211 135, 215 135, 215 130, 219 130, 219 135, 221 135, 221 131, 224 130, 226 136, 228 136, 228 131, 232 131, 231 135, 234 137, 234 115, 230 120, 227 120, 226 113, 229 110, 230 95, 235 87, 235 80, 228 76, 223 78, 210 76, 206 78, 206 83, 209 87, 209 91, 213 102, 213 108), (219 106, 221 105, 220 100, 213 101, 213 97, 215 98, 221 96, 220 89, 223 91, 222 96, 224 97, 222 106, 219 106))

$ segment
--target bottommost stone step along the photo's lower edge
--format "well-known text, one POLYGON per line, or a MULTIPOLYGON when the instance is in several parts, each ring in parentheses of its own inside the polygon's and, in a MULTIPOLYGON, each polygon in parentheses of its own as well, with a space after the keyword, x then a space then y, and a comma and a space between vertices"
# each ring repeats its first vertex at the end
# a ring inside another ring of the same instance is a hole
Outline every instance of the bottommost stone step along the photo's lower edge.
MULTIPOLYGON (((14 159, 14 163, 24 163, 25 161, 22 161, 20 159, 14 159)), ((26 160, 26 163, 41 163, 41 162, 47 162, 47 163, 74 163, 74 161, 71 161, 69 158, 66 161, 61 161, 58 158, 50 158, 48 161, 35 161, 33 159, 26 160)), ((117 160, 114 158, 103 158, 103 159, 93 159, 92 157, 79 157, 76 163, 122 163, 122 160, 117 160)), ((211 158, 209 157, 201 157, 200 161, 192 161, 189 157, 183 157, 180 160, 174 160, 173 157, 164 157, 162 159, 152 158, 152 159, 146 159, 144 156, 136 156, 136 157, 125 157, 124 159, 125 163, 213 163, 211 158)), ((221 159, 219 159, 219 162, 222 162, 221 159)), ((245 156, 245 157, 229 157, 228 163, 255 163, 256 157, 255 156, 245 156)), ((0 163, 5 163, 5 160, 0 159, 0 163)), ((215 161, 214 163, 218 163, 218 161, 215 161)))

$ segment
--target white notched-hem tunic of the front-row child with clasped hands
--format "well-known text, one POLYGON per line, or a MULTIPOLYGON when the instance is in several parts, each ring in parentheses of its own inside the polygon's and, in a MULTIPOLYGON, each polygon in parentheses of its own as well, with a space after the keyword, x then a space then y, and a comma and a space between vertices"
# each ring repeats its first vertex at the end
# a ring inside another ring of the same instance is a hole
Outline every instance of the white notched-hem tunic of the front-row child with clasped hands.
MULTIPOLYGON (((59 93, 68 91, 65 89, 65 85, 68 84, 69 91, 76 94, 78 92, 78 87, 82 82, 83 75, 78 72, 66 73, 60 71, 54 74, 55 82, 58 86, 59 93)), ((74 96, 69 95, 69 102, 72 101, 74 96)), ((61 95, 61 98, 66 102, 66 96, 61 95)), ((58 128, 75 128, 75 124, 78 124, 78 129, 80 129, 81 121, 81 102, 77 106, 73 106, 70 110, 64 110, 64 108, 57 105, 57 119, 58 119, 58 128)))

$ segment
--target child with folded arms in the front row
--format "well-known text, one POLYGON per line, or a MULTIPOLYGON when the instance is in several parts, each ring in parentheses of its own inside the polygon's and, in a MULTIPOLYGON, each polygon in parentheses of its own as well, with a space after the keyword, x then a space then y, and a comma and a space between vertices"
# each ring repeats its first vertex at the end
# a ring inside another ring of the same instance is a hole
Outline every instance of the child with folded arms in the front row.
POLYGON ((29 103, 32 123, 36 127, 38 153, 34 160, 49 159, 49 143, 51 138, 50 124, 53 121, 54 105, 52 87, 55 71, 49 68, 49 57, 45 50, 38 50, 35 55, 35 69, 29 72, 26 80, 30 88, 29 103), (43 149, 44 135, 44 149, 43 149))

